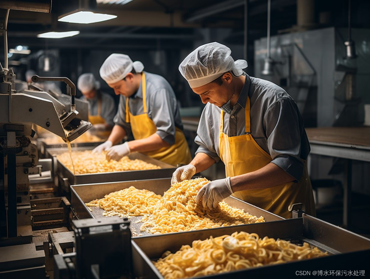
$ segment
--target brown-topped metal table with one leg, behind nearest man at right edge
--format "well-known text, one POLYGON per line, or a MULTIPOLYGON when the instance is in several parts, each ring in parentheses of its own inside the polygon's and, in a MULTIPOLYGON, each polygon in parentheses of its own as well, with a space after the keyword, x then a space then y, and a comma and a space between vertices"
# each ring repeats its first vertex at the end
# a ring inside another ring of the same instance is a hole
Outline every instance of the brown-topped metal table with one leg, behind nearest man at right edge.
POLYGON ((347 159, 343 193, 343 225, 351 222, 352 160, 370 162, 370 127, 319 127, 306 129, 310 154, 347 159))

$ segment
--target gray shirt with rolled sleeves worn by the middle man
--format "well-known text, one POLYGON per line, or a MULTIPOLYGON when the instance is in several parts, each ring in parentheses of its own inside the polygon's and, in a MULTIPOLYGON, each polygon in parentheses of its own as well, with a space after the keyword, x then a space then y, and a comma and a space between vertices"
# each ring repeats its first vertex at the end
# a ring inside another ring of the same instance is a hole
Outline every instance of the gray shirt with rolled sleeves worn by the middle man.
MULTIPOLYGON (((145 72, 147 114, 157 127, 157 134, 170 145, 175 143, 175 127, 182 130, 180 112, 174 90, 167 80, 158 74, 145 72)), ((142 82, 138 91, 128 98, 128 107, 132 115, 144 113, 142 102, 142 82)), ((114 123, 131 133, 130 123, 126 122, 126 97, 120 96, 118 111, 114 123)))

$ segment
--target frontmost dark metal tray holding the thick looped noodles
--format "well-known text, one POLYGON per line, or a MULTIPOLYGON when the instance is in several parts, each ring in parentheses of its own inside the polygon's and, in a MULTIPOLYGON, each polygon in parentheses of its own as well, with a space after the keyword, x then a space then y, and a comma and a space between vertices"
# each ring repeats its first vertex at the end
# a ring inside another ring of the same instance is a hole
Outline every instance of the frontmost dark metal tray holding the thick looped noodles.
POLYGON ((299 275, 299 272, 303 272, 303 270, 310 272, 310 275, 315 275, 314 272, 316 272, 316 276, 318 276, 320 270, 323 273, 331 270, 339 270, 340 272, 366 270, 365 267, 369 261, 370 239, 303 214, 302 218, 268 223, 182 232, 181 235, 179 233, 167 233, 164 235, 133 238, 131 243, 135 276, 137 278, 164 279, 153 265, 152 260, 160 258, 166 250, 174 253, 182 245, 191 245, 194 240, 205 240, 210 236, 231 235, 236 231, 257 233, 260 237, 268 236, 275 239, 286 239, 297 244, 303 241, 308 242, 322 251, 327 251, 329 256, 265 265, 258 268, 242 269, 197 278, 266 278, 264 276, 276 276, 277 274, 283 275, 285 278, 292 278, 299 275))

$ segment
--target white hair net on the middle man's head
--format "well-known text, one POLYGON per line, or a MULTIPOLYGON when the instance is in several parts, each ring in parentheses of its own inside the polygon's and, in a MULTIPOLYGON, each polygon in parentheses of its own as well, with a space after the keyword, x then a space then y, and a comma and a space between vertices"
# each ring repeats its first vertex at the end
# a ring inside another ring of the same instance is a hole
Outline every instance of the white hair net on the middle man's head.
POLYGON ((127 54, 112 53, 101 65, 99 73, 105 82, 115 83, 124 79, 132 69, 141 73, 144 70, 144 65, 140 61, 132 62, 127 54))

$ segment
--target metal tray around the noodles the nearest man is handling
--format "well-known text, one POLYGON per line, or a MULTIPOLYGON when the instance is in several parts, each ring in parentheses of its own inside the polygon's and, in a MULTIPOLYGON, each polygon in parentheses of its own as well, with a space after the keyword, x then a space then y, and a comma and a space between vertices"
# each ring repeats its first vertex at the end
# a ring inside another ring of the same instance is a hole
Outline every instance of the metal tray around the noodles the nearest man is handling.
MULTIPOLYGON (((85 205, 86 202, 90 202, 94 199, 101 199, 104 195, 107 195, 111 192, 115 192, 121 189, 134 186, 137 189, 147 189, 156 194, 163 195, 165 191, 169 189, 171 185, 171 178, 162 178, 162 179, 148 179, 148 180, 134 180, 134 181, 125 181, 125 182, 114 182, 114 183, 96 183, 96 184, 85 184, 85 185, 72 185, 71 186, 71 207, 78 219, 84 218, 99 218, 103 217, 103 209, 99 207, 90 207, 85 205)), ((244 209, 245 212, 249 212, 252 215, 257 217, 263 216, 266 222, 284 220, 284 218, 277 216, 273 213, 270 213, 266 210, 263 210, 259 207, 251 205, 249 203, 243 202, 242 200, 236 199, 235 197, 227 197, 225 199, 229 205, 244 209)), ((140 232, 140 226, 142 223, 135 223, 140 220, 141 216, 132 216, 131 220, 131 231, 132 236, 142 235, 152 235, 146 232, 140 232)), ((234 226, 238 227, 238 226, 234 226)))

